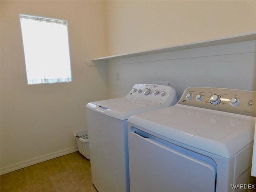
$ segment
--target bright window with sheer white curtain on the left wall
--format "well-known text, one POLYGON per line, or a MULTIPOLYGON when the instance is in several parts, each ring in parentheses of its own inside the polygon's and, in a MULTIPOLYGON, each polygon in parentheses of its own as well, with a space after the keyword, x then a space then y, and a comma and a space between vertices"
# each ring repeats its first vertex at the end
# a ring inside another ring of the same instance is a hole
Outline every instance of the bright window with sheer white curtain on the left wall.
POLYGON ((68 22, 20 14, 28 84, 70 82, 68 22))

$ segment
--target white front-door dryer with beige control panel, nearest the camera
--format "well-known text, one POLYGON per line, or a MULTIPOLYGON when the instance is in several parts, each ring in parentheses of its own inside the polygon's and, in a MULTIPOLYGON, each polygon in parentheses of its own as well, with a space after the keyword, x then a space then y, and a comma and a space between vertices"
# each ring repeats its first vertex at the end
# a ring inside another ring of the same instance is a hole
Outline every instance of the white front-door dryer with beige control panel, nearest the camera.
POLYGON ((248 184, 256 92, 187 88, 128 119, 131 192, 229 192, 248 184))

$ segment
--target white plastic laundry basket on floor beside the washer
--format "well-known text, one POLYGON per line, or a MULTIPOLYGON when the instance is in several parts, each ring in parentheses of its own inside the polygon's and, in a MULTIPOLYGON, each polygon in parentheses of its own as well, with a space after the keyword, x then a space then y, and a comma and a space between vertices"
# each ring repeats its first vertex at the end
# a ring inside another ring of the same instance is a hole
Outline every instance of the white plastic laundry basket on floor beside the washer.
POLYGON ((76 137, 76 143, 77 143, 79 152, 86 159, 90 159, 88 130, 84 129, 84 130, 74 132, 74 136, 76 137))

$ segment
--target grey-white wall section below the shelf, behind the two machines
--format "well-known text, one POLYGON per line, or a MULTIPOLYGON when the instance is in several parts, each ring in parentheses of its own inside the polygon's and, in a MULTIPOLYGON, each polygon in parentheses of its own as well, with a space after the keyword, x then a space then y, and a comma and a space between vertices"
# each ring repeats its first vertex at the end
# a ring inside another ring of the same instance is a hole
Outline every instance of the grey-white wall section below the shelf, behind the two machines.
POLYGON ((110 98, 136 83, 170 82, 178 99, 189 86, 256 91, 256 41, 209 46, 108 61, 110 98))

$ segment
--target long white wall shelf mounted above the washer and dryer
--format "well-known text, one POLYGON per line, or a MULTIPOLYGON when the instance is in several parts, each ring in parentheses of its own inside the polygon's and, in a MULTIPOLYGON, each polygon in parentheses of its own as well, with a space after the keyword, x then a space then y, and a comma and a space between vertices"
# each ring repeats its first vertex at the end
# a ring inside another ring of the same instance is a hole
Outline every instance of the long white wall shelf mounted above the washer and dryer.
POLYGON ((112 56, 107 56, 107 57, 95 58, 92 61, 87 61, 86 64, 88 66, 95 66, 95 64, 100 64, 100 65, 107 64, 108 60, 113 60, 113 59, 118 59, 118 58, 128 58, 128 57, 142 56, 142 55, 148 55, 148 54, 172 52, 172 51, 187 50, 187 49, 193 49, 193 48, 202 48, 202 47, 208 47, 208 46, 217 46, 217 45, 245 42, 245 41, 251 41, 251 40, 256 40, 256 32, 251 32, 251 33, 243 34, 243 35, 239 35, 239 36, 230 36, 230 37, 226 37, 226 38, 208 40, 208 41, 203 41, 203 42, 196 42, 196 43, 191 43, 191 44, 171 46, 171 47, 160 48, 160 49, 155 49, 155 50, 147 50, 147 51, 142 51, 142 52, 132 52, 132 53, 127 53, 127 54, 118 54, 118 55, 112 55, 112 56))

